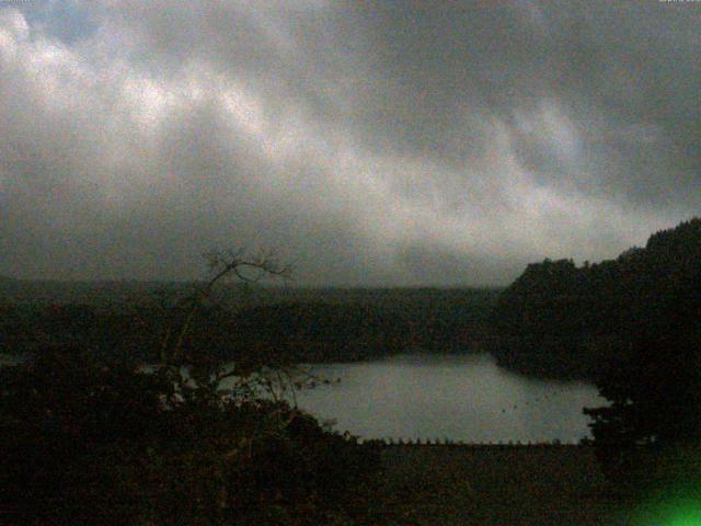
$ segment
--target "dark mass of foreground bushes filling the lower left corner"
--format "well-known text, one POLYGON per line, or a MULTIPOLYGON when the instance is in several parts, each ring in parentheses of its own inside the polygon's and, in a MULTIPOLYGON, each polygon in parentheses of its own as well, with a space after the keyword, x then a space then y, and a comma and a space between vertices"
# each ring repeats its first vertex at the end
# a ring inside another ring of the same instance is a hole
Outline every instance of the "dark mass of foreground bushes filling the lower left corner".
POLYGON ((0 369, 0 523, 354 524, 379 453, 281 401, 45 350, 0 369))

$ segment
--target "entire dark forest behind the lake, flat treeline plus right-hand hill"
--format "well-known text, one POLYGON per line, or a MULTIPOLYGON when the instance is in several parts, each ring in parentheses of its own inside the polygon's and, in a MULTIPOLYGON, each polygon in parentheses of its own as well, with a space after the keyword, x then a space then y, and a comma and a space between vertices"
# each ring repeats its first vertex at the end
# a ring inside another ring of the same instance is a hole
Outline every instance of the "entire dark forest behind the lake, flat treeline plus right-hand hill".
MULTIPOLYGON (((529 264, 505 289, 230 284, 198 310, 186 344, 219 357, 256 348, 308 363, 489 351, 522 374, 594 380, 642 329, 696 334, 699 261, 693 218, 616 260, 529 264)), ((0 279, 0 353, 51 342, 142 354, 164 330, 169 301, 196 285, 0 279)))

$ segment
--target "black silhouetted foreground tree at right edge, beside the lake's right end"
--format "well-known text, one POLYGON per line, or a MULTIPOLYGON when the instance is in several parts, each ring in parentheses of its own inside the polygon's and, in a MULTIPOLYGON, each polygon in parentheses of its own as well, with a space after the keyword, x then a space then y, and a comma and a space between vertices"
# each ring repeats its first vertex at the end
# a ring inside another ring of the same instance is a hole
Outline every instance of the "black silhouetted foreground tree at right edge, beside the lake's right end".
POLYGON ((651 322, 620 348, 597 381, 609 404, 584 410, 601 467, 616 484, 701 481, 697 462, 677 469, 680 451, 697 459, 701 453, 701 311, 689 307, 670 306, 670 324, 651 322))

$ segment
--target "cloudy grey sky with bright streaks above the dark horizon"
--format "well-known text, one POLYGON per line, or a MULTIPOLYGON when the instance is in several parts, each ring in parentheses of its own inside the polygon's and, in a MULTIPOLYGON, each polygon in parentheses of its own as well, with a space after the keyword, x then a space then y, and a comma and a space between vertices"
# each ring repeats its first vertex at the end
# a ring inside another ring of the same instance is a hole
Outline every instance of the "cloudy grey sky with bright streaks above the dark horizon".
POLYGON ((499 286, 701 214, 701 2, 0 0, 0 274, 499 286))

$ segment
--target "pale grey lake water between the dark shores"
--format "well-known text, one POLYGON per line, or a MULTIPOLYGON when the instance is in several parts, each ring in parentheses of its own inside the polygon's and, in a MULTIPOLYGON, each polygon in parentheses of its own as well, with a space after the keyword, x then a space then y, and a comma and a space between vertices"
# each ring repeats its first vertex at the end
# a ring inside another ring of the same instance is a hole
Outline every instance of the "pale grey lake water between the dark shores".
POLYGON ((312 370, 341 381, 299 392, 299 407, 363 438, 571 443, 589 436, 582 408, 605 403, 594 386, 526 378, 486 354, 400 355, 312 370))

